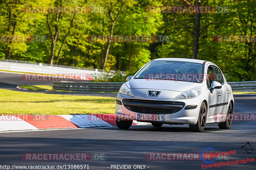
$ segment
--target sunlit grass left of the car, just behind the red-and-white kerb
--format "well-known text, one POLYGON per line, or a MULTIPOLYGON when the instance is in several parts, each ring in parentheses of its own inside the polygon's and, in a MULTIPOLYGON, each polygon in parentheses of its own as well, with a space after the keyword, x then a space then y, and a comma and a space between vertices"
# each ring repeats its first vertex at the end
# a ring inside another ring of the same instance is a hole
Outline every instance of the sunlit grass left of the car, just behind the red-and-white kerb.
POLYGON ((115 113, 115 98, 0 89, 0 114, 69 115, 115 113))

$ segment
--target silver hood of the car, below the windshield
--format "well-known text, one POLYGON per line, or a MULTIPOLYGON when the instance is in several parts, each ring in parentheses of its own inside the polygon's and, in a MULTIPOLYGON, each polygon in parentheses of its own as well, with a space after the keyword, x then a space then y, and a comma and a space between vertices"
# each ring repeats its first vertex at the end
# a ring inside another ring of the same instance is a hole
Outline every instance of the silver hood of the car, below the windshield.
POLYGON ((201 83, 174 81, 174 80, 153 80, 153 79, 131 79, 126 82, 130 89, 155 89, 155 90, 172 90, 186 92, 195 88, 200 88, 201 83))

